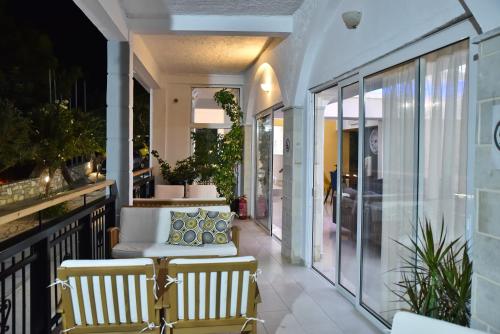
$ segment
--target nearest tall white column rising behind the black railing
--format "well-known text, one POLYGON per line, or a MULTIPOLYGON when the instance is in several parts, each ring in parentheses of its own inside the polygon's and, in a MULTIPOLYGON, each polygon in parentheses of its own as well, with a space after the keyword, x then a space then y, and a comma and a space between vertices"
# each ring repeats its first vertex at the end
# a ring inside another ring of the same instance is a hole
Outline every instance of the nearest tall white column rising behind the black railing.
POLYGON ((132 59, 128 42, 108 41, 106 177, 116 181, 117 214, 132 204, 132 59))

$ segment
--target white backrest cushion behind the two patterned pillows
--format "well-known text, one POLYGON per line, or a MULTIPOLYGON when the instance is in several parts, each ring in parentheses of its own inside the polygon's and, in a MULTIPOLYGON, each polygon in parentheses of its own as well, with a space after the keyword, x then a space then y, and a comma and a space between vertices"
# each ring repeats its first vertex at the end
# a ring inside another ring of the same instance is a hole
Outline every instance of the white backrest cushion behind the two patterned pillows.
POLYGON ((228 205, 202 207, 123 207, 120 214, 120 242, 165 243, 170 234, 171 211, 198 209, 230 212, 228 205))

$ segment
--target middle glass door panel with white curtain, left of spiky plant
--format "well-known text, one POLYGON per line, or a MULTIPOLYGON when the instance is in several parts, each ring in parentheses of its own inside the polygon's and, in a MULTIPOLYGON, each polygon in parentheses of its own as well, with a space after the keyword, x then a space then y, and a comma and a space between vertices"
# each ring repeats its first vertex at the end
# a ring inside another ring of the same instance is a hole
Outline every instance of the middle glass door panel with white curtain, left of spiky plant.
POLYGON ((365 78, 361 303, 390 321, 417 214, 417 61, 365 78))

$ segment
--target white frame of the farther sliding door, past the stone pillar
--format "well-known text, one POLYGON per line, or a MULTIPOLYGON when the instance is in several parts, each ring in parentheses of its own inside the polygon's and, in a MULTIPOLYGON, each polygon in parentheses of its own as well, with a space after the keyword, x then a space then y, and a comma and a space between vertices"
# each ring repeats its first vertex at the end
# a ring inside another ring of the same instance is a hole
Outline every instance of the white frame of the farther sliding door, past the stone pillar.
MULTIPOLYGON (((269 179, 271 180, 270 182, 270 185, 269 185, 269 189, 268 189, 268 218, 267 218, 267 226, 264 226, 263 224, 257 222, 257 224, 261 227, 263 227, 266 232, 270 235, 270 236, 274 236, 277 240, 281 241, 280 238, 276 237, 274 234, 273 234, 273 184, 272 184, 272 177, 273 177, 273 168, 274 168, 274 114, 276 111, 278 110, 281 110, 283 109, 283 103, 282 102, 279 102, 275 105, 273 105, 272 107, 270 108, 267 108, 261 112, 259 112, 258 114, 255 115, 255 122, 254 122, 254 144, 255 144, 255 163, 254 163, 254 167, 255 167, 255 177, 254 177, 254 201, 255 201, 255 205, 254 205, 254 211, 257 210, 257 182, 258 182, 258 176, 257 176, 257 165, 258 165, 258 161, 257 161, 257 150, 259 149, 259 138, 257 137, 258 135, 258 129, 257 129, 257 122, 259 119, 262 119, 264 117, 271 117, 271 140, 269 141, 269 146, 270 146, 270 149, 269 149, 269 153, 270 153, 270 161, 269 161, 269 170, 268 170, 268 176, 270 177, 269 179)), ((284 119, 284 117, 283 117, 284 119)), ((283 222, 282 222, 283 223, 283 222)))

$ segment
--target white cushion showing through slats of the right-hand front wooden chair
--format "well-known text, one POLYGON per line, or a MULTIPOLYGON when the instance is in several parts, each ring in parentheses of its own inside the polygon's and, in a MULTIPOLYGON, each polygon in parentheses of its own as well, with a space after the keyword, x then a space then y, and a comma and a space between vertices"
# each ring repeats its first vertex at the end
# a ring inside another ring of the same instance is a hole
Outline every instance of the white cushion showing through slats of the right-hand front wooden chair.
MULTIPOLYGON (((187 264, 187 265, 197 265, 197 264, 216 264, 216 263, 249 263, 251 261, 255 261, 253 256, 240 256, 240 257, 227 257, 227 258, 211 258, 211 259, 173 259, 170 261, 170 264, 187 264)), ((188 296, 185 298, 184 296, 184 284, 185 279, 184 275, 186 273, 177 274, 177 279, 179 283, 177 284, 177 316, 179 320, 188 320, 195 319, 195 274, 188 272, 187 273, 187 284, 188 284, 188 296), (188 314, 184 314, 184 303, 188 303, 188 314)), ((249 283, 250 283, 250 275, 254 273, 249 272, 248 270, 244 270, 240 273, 240 271, 224 271, 221 272, 220 276, 220 296, 219 296, 219 314, 216 314, 216 293, 217 293, 217 273, 216 272, 201 272, 199 279, 199 304, 198 304, 198 317, 199 319, 218 319, 226 317, 226 305, 227 305, 227 290, 228 290, 228 282, 231 280, 231 300, 229 307, 229 316, 241 316, 247 313, 248 306, 248 292, 249 292, 249 283), (239 284, 239 275, 243 275, 241 280, 241 307, 237 310, 237 299, 238 299, 238 284, 239 284), (210 291, 209 291, 209 307, 208 310, 205 309, 205 292, 206 292, 206 278, 207 275, 210 275, 210 291), (208 313, 208 314, 207 314, 208 313)))

